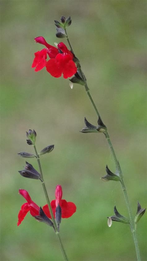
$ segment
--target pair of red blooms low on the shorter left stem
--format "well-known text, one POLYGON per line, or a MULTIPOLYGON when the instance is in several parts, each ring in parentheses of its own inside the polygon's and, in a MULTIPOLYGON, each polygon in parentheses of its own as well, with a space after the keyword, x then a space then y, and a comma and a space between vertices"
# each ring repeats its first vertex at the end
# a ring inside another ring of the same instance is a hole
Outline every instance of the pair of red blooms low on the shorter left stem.
MULTIPOLYGON (((25 216, 28 212, 35 217, 39 215, 40 207, 32 201, 31 197, 29 196, 29 193, 25 189, 19 189, 19 193, 26 199, 27 203, 24 203, 21 206, 21 209, 18 214, 18 223, 17 226, 21 224, 21 222, 24 220, 25 216)), ((61 199, 62 198, 62 187, 61 185, 57 185, 56 192, 55 192, 56 200, 51 201, 51 208, 53 210, 53 215, 55 217, 55 211, 56 211, 56 204, 58 204, 61 207, 62 211, 62 218, 69 218, 73 215, 73 213, 76 211, 76 206, 72 202, 67 202, 66 200, 61 199)), ((43 206, 43 211, 47 215, 48 218, 51 218, 48 206, 43 206)))

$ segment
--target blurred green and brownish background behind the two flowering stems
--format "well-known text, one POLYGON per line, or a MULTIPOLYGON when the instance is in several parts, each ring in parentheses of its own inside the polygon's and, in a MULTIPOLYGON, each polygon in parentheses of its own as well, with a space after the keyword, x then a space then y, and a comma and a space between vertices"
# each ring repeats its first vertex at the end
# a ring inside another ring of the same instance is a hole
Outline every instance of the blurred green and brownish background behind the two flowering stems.
MULTIPOLYGON (((41 183, 18 173, 25 159, 17 153, 33 153, 26 144, 29 129, 37 132, 38 150, 55 144, 52 153, 41 157, 50 199, 61 184, 63 198, 77 206, 60 225, 69 260, 136 260, 129 226, 107 226, 114 205, 122 215, 128 213, 120 184, 100 179, 106 164, 115 172, 105 136, 79 132, 84 117, 97 123, 84 87, 74 85, 71 90, 68 79, 53 78, 46 69, 35 73, 31 64, 34 52, 44 48, 34 38, 41 35, 51 45, 60 42, 54 20, 70 15, 67 32, 108 127, 135 215, 137 200, 146 206, 145 9, 145 1, 1 1, 2 261, 63 260, 51 228, 30 214, 17 227, 25 202, 19 188, 39 206, 46 204, 41 183)), ((38 170, 35 159, 28 161, 38 170)), ((137 228, 146 260, 145 215, 137 228)))

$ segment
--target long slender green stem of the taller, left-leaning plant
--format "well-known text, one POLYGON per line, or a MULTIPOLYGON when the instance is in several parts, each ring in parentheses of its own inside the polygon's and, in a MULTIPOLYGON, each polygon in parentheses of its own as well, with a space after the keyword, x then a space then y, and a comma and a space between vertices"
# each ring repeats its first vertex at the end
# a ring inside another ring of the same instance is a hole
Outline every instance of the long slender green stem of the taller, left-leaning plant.
MULTIPOLYGON (((71 51, 73 52, 73 48, 70 44, 70 41, 69 41, 69 38, 68 38, 68 35, 67 35, 67 32, 66 32, 66 29, 65 29, 65 33, 66 33, 66 40, 69 44, 69 47, 71 49, 71 51)), ((73 52, 74 54, 74 52, 73 52)), ((82 72, 82 69, 81 69, 81 65, 80 65, 80 62, 78 60, 78 62, 76 63, 77 64, 77 69, 78 69, 78 73, 80 75, 80 77, 85 81, 85 91, 91 101, 91 104, 97 114, 97 116, 101 119, 102 121, 102 118, 100 116, 100 113, 96 107, 96 104, 91 96, 91 93, 89 91, 89 88, 87 86, 87 82, 86 82, 86 77, 84 75, 84 73, 82 72)), ((103 122, 103 121, 102 121, 103 122)), ((115 165, 116 165, 116 170, 118 171, 118 174, 119 174, 119 177, 120 177, 120 183, 122 185, 122 191, 123 191, 123 194, 124 194, 124 198, 125 198, 125 201, 126 201, 126 205, 127 205, 127 209, 128 209, 128 213, 129 213, 129 217, 130 217, 130 227, 131 227, 131 232, 132 232, 132 236, 133 236, 133 239, 134 239, 134 244, 135 244, 135 248, 136 248, 136 255, 137 255, 137 260, 140 261, 140 251, 139 251, 139 245, 138 245, 138 241, 137 241, 137 237, 136 237, 136 229, 135 229, 135 223, 134 223, 134 220, 133 220, 133 216, 132 216, 132 212, 131 212, 131 206, 130 206, 130 203, 129 203, 129 199, 128 199, 128 195, 127 195, 127 190, 126 190, 126 186, 124 184, 124 181, 123 181, 123 175, 122 175, 122 170, 120 168, 120 165, 119 165, 119 162, 118 162, 118 159, 116 157, 116 154, 115 154, 115 151, 114 151, 114 147, 113 147, 113 144, 111 142, 111 139, 109 137, 109 133, 108 131, 105 131, 105 138, 108 142, 108 145, 109 145, 109 148, 110 148, 110 151, 112 153, 112 157, 114 159, 114 162, 115 162, 115 165)))

